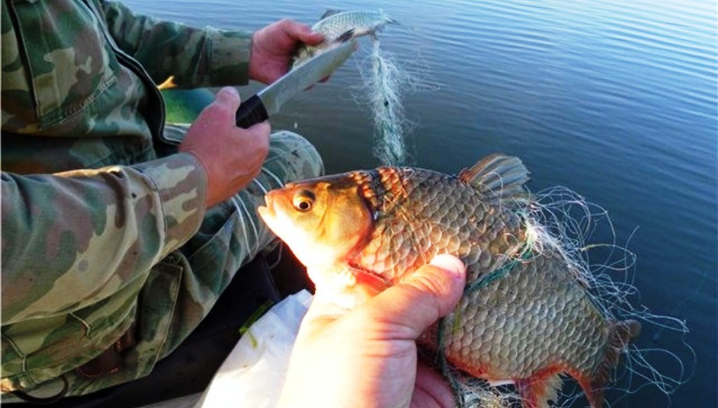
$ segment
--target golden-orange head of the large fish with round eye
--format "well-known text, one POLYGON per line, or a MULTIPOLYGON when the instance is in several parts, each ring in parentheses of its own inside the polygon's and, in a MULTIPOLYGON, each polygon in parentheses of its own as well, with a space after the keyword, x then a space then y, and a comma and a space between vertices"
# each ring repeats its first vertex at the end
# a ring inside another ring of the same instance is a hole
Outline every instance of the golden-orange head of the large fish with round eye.
POLYGON ((360 185, 345 175, 290 183, 265 200, 259 215, 307 268, 356 254, 373 228, 360 185))

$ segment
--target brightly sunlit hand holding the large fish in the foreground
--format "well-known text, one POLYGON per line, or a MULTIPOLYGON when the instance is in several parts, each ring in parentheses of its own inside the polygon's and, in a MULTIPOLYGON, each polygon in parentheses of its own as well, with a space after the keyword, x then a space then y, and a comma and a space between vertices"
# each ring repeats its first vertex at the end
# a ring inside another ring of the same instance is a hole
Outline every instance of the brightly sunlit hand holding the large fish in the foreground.
POLYGON ((449 384, 417 361, 416 338, 455 307, 465 280, 459 259, 439 255, 354 310, 317 288, 279 407, 453 407, 449 384))

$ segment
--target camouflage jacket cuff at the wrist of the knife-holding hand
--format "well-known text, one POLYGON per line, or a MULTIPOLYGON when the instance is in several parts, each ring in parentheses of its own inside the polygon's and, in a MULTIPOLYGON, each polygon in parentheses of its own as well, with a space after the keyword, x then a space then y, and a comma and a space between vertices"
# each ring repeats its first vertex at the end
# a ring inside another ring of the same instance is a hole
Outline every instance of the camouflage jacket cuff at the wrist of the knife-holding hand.
POLYGON ((165 253, 179 248, 200 229, 205 216, 207 174, 189 153, 171 154, 138 164, 154 183, 164 218, 165 253))

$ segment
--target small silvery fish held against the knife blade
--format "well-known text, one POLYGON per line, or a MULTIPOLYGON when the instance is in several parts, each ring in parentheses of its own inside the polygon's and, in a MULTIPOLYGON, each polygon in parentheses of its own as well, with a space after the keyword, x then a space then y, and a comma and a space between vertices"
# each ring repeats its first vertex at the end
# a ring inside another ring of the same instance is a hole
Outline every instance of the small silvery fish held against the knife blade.
POLYGON ((299 48, 292 68, 309 60, 317 53, 341 42, 347 42, 363 35, 374 35, 386 24, 396 23, 383 11, 337 11, 329 10, 322 15, 312 30, 324 35, 320 44, 299 48))

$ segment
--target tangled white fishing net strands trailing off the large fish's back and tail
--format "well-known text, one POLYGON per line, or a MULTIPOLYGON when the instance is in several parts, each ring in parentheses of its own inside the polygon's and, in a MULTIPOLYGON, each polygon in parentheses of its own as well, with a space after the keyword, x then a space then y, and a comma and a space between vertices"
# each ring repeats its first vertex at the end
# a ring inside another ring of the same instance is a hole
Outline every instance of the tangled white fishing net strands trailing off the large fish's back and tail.
MULTIPOLYGON (((554 239, 564 251, 576 279, 587 287, 595 305, 613 320, 638 320, 642 335, 630 343, 625 364, 614 372, 607 400, 617 404, 628 394, 653 386, 668 398, 693 375, 695 353, 685 342, 688 328, 684 320, 657 315, 641 304, 635 287, 636 256, 626 244, 617 242, 615 228, 605 208, 589 203, 566 187, 553 187, 536 194, 533 220, 541 225, 541 236, 554 239), (645 341, 651 337, 651 341, 645 341), (665 337, 673 350, 658 347, 665 337), (659 363, 660 362, 660 363, 659 363), (660 364, 661 369, 656 368, 660 364)), ((635 232, 635 231, 634 231, 635 232)), ((633 233, 631 233, 633 236, 633 233)), ((574 405, 580 392, 567 394, 561 407, 574 405)))

